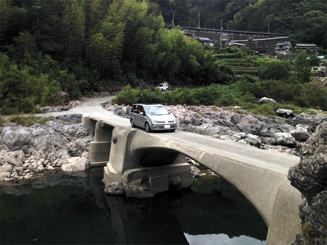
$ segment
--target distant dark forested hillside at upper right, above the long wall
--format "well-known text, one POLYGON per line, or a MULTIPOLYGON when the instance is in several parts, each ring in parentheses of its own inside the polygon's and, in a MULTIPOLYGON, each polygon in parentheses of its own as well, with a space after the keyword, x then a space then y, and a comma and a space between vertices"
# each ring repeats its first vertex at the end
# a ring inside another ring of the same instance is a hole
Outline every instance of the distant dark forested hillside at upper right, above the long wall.
POLYGON ((151 0, 160 6, 167 23, 174 12, 175 25, 238 31, 291 34, 300 43, 326 48, 327 2, 325 0, 151 0))

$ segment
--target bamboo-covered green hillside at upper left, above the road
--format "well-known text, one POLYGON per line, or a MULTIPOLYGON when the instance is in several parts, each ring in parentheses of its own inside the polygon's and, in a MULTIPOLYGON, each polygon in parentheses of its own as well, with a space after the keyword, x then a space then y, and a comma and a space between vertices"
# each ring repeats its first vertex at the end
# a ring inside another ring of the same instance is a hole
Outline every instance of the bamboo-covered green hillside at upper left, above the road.
POLYGON ((165 28, 147 1, 1 0, 2 113, 32 111, 113 84, 208 85, 233 70, 181 29, 165 28))

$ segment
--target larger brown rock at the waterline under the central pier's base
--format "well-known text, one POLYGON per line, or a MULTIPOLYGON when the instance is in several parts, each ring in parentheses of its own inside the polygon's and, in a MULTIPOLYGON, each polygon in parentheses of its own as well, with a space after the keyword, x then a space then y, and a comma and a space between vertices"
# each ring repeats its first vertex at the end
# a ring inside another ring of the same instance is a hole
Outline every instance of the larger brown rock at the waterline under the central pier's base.
POLYGON ((152 198, 155 194, 151 191, 149 181, 144 182, 142 179, 136 179, 130 183, 124 182, 123 184, 127 197, 152 198))

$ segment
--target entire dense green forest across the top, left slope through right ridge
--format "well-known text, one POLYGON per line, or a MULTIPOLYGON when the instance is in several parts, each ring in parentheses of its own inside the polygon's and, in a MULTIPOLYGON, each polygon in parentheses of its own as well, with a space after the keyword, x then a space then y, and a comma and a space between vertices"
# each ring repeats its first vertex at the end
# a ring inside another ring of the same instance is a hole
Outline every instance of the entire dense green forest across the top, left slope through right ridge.
POLYGON ((304 35, 310 42, 325 43, 324 1, 0 0, 0 4, 2 114, 32 112, 37 104, 61 104, 60 91, 77 99, 90 90, 136 87, 141 80, 168 81, 177 87, 235 83, 235 71, 219 58, 218 46, 204 47, 185 39, 178 27, 165 28, 164 18, 175 10, 181 25, 196 26, 192 16, 201 11, 206 27, 217 27, 223 18, 228 28, 251 31, 264 31, 270 18, 262 18, 271 15, 281 19, 276 24, 271 17, 271 32, 291 32, 294 40, 304 35), (277 11, 282 4, 284 14, 277 11), (296 11, 289 13, 287 9, 295 5, 296 11))

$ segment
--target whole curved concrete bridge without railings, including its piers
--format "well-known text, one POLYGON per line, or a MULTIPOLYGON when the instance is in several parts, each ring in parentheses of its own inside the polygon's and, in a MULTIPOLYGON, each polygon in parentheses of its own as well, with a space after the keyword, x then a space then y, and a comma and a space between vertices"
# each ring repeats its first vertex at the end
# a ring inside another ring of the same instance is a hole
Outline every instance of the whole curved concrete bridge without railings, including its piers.
POLYGON ((192 182, 185 156, 203 164, 238 188, 268 227, 267 244, 289 244, 300 231, 300 192, 287 179, 299 158, 203 135, 176 132, 146 133, 132 129, 129 120, 116 116, 83 117, 95 130, 89 160, 105 165, 104 182, 147 179, 155 192, 168 189, 168 178, 181 185, 192 182))

